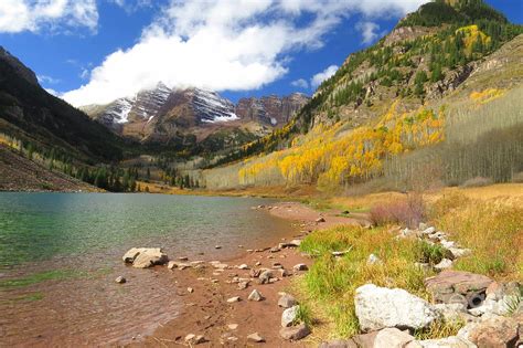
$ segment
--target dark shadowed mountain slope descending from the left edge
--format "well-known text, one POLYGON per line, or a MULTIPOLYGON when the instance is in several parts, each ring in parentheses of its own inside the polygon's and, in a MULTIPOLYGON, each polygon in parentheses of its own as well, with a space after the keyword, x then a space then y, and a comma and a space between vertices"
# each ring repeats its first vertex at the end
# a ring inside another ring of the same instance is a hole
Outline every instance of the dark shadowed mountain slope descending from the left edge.
POLYGON ((83 160, 121 158, 119 139, 83 112, 49 94, 34 72, 0 48, 1 134, 83 160))

